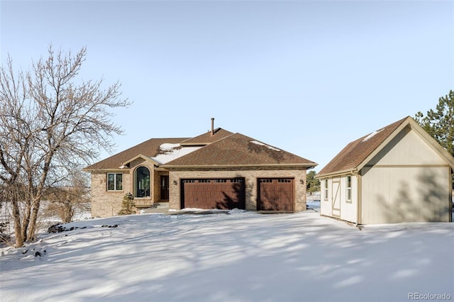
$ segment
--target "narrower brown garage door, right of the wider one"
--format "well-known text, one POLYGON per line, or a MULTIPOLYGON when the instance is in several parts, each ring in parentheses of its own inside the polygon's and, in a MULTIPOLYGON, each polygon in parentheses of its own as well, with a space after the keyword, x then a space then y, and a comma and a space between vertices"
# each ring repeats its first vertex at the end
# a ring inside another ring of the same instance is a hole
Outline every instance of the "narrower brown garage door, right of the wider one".
POLYGON ((258 179, 258 184, 258 210, 294 211, 294 179, 258 179))

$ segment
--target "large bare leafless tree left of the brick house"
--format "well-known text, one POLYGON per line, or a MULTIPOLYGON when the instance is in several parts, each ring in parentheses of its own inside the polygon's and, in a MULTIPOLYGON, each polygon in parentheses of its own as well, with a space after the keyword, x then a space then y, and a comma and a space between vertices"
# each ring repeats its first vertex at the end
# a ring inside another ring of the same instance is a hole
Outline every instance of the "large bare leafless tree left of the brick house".
POLYGON ((111 150, 122 133, 110 110, 130 103, 118 82, 104 89, 102 79, 77 77, 86 54, 50 46, 30 71, 15 73, 11 57, 1 66, 0 199, 11 204, 16 247, 34 239, 46 189, 111 150))

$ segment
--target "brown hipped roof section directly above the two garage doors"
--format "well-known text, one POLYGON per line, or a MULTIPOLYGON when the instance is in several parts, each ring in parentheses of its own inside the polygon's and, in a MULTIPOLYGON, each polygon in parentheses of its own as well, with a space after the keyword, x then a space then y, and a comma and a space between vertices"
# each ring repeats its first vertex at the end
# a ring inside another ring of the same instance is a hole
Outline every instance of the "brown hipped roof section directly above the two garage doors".
POLYGON ((277 147, 234 133, 161 167, 298 166, 317 164, 277 147))

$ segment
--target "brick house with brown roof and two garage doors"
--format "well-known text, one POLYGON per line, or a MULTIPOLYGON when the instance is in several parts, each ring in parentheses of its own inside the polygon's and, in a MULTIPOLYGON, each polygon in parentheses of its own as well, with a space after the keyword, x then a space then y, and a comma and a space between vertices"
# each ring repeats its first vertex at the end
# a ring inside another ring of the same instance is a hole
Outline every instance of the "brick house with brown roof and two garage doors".
POLYGON ((240 208, 258 211, 306 209, 303 157, 222 128, 194 138, 152 138, 96 162, 92 216, 114 216, 125 194, 135 206, 169 203, 170 209, 240 208))

